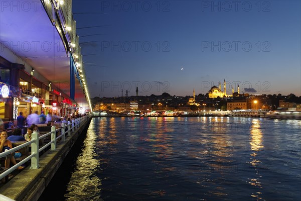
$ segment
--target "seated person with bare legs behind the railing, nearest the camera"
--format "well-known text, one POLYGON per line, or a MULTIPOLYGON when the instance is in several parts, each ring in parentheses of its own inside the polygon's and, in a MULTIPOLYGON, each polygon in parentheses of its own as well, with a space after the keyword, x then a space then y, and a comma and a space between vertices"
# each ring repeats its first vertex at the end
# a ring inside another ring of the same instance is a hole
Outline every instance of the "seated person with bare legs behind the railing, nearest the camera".
MULTIPOLYGON (((8 138, 8 133, 6 131, 2 131, 0 135, 0 153, 4 152, 5 150, 9 150, 13 148, 12 142, 7 139, 8 138)), ((14 157, 14 154, 8 155, 7 159, 5 160, 5 168, 10 168, 11 162, 16 165, 16 159, 14 157)), ((23 169, 23 166, 18 167, 18 169, 23 169)))

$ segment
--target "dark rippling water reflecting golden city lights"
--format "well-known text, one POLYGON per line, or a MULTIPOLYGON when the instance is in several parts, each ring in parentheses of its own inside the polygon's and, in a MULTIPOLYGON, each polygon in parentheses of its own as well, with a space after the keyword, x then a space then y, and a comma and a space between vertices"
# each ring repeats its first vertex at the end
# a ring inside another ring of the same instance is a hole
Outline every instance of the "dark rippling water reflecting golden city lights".
POLYGON ((300 200, 301 121, 93 118, 66 200, 300 200))

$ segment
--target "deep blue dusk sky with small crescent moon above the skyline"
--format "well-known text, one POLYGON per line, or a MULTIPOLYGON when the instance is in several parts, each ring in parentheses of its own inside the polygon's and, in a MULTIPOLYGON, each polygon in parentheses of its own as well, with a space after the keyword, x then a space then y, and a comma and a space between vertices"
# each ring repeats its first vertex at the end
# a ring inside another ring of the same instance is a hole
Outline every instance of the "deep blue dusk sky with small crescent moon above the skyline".
POLYGON ((300 96, 300 1, 236 2, 73 1, 90 97, 300 96))

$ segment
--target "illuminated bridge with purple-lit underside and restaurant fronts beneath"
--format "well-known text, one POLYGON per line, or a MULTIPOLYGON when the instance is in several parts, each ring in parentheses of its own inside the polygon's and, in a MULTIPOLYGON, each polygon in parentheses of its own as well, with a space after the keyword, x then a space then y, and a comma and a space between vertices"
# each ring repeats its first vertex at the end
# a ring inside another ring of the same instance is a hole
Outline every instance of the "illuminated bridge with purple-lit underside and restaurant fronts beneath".
POLYGON ((72 0, 0 3, 0 118, 92 112, 72 0))

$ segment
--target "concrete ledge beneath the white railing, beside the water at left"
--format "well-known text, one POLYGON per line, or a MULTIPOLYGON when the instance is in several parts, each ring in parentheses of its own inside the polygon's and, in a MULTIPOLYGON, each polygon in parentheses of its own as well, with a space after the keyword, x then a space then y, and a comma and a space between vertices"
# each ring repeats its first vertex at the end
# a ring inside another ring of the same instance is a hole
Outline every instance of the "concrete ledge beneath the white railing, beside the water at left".
POLYGON ((57 150, 46 151, 40 157, 40 168, 32 170, 30 166, 22 170, 18 175, 12 178, 8 183, 0 188, 0 194, 3 194, 16 201, 36 201, 39 199, 52 177, 55 175, 65 157, 71 150, 79 135, 90 124, 91 117, 70 137, 66 136, 65 142, 57 145, 57 150))

